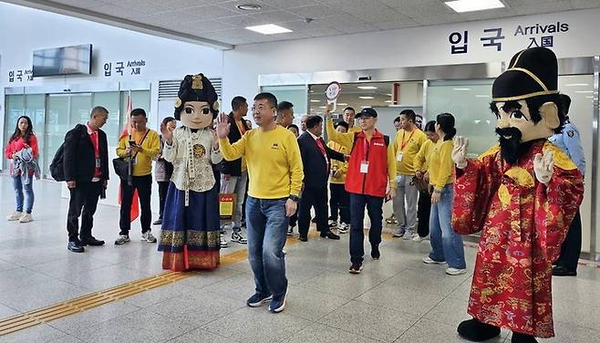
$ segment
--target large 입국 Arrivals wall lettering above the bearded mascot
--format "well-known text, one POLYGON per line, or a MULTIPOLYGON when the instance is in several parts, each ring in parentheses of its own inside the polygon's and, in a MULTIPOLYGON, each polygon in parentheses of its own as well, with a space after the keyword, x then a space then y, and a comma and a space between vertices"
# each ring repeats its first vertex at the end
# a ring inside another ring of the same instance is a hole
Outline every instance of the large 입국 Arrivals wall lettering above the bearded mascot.
POLYGON ((517 44, 521 48, 554 47, 555 43, 560 41, 560 37, 566 36, 565 34, 568 32, 569 24, 558 21, 517 25, 516 27, 490 27, 482 30, 453 31, 448 36, 448 42, 450 43, 451 55, 467 54, 470 52, 471 47, 480 44, 481 47, 490 48, 492 51, 502 51, 502 43, 508 43, 509 40, 510 43, 517 44))

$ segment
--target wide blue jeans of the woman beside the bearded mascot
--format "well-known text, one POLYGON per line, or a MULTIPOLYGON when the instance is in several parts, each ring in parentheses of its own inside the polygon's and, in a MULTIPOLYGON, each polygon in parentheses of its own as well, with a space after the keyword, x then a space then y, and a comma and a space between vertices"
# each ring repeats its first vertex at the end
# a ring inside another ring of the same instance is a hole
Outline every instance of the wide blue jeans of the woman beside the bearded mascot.
POLYGON ((434 261, 446 261, 452 268, 464 269, 464 247, 462 237, 452 229, 452 183, 444 186, 440 194, 440 202, 431 203, 429 215, 429 238, 434 261))

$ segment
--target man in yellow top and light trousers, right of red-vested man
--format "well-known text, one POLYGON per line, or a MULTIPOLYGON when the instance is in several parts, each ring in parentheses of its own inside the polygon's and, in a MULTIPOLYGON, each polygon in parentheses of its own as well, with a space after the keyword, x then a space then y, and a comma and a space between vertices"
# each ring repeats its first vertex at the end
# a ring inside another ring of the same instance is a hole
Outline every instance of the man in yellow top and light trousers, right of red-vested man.
POLYGON ((396 172, 398 172, 396 177, 398 192, 393 202, 398 228, 394 237, 404 237, 404 239, 412 239, 415 234, 419 190, 414 184, 411 184, 412 178, 415 176, 413 162, 421 146, 427 141, 425 133, 415 125, 415 120, 414 110, 404 109, 400 112, 402 129, 396 133, 396 141, 393 144, 396 172))

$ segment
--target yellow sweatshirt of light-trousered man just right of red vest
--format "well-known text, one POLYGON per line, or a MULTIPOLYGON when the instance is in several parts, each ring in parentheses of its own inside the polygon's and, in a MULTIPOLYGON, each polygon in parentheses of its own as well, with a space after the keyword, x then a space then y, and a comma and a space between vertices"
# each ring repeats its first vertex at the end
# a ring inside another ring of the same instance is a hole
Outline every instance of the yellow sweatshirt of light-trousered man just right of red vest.
POLYGON ((413 162, 427 136, 419 129, 412 132, 398 130, 394 141, 394 156, 396 156, 396 172, 398 175, 414 175, 413 162), (400 157, 401 156, 401 157, 400 157), (400 160, 401 161, 398 161, 400 160))

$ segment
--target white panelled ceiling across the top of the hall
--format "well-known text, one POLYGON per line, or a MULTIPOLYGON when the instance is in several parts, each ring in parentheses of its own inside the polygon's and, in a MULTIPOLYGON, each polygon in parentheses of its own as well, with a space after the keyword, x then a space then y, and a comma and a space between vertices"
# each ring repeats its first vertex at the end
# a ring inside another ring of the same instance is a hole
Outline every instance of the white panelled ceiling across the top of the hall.
POLYGON ((12 0, 17 5, 85 17, 115 26, 165 31, 188 41, 230 46, 317 36, 337 36, 507 16, 600 7, 600 0, 502 0, 505 8, 457 14, 444 0, 12 0), (237 5, 256 4, 247 12, 237 5), (102 20, 100 20, 102 18, 102 20), (305 18, 313 19, 306 23, 305 18), (265 36, 245 26, 278 24, 294 32, 265 36))

